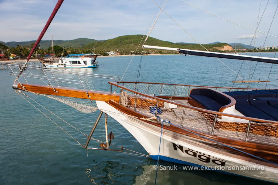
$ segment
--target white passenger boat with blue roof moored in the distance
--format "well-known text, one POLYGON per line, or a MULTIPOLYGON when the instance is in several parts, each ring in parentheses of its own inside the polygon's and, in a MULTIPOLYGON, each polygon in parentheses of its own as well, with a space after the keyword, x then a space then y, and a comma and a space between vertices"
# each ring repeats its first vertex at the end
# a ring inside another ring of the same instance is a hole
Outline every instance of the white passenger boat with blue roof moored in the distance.
POLYGON ((98 62, 96 58, 98 55, 94 53, 88 54, 72 54, 66 57, 61 57, 57 63, 44 63, 46 68, 96 68, 98 67, 98 62))

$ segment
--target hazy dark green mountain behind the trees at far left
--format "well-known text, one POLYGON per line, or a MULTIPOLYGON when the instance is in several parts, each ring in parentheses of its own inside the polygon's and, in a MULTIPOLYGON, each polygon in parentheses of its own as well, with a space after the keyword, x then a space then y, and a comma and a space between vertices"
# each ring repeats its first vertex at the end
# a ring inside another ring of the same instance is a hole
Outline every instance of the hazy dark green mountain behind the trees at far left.
MULTIPOLYGON (((103 40, 96 40, 96 41, 103 41, 103 40)), ((23 41, 23 42, 2 42, 4 43, 6 46, 8 47, 16 47, 17 45, 19 46, 30 46, 32 43, 35 43, 36 40, 31 40, 31 41, 23 41)), ((87 38, 79 38, 79 39, 73 39, 73 40, 53 40, 54 45, 58 45, 58 46, 63 46, 66 47, 83 47, 88 43, 93 43, 95 42, 95 39, 87 39, 87 38)), ((42 49, 47 49, 48 47, 51 47, 51 40, 42 40, 40 41, 40 47, 42 49)))

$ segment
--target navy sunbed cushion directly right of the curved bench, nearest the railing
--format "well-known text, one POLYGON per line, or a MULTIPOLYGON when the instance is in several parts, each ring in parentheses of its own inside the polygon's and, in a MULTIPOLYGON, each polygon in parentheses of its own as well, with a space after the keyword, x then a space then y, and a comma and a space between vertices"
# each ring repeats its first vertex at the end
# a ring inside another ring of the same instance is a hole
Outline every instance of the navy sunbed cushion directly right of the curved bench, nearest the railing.
POLYGON ((247 100, 237 100, 235 109, 247 117, 275 121, 273 117, 250 105, 249 101, 247 100))

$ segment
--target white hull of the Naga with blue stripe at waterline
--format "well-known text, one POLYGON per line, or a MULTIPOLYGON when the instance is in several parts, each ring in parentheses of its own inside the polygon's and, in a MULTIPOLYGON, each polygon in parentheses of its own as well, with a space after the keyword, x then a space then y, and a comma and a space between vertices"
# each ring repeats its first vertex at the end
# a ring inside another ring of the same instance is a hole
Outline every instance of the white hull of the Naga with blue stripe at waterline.
MULTIPOLYGON (((161 128, 128 116, 103 101, 96 101, 96 103, 101 111, 123 125, 150 156, 157 160, 161 128)), ((205 145, 204 141, 200 142, 198 139, 163 129, 159 157, 161 160, 211 167, 224 173, 278 183, 277 168, 258 165, 255 160, 249 162, 238 157, 238 155, 205 145), (259 170, 246 170, 250 167, 256 167, 259 170), (235 168, 242 170, 233 170, 235 168)))

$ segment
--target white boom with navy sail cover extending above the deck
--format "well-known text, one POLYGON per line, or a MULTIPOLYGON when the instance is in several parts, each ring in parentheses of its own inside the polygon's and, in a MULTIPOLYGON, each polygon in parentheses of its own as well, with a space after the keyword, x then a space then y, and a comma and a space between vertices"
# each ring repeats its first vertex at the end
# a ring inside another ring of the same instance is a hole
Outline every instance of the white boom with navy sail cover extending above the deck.
POLYGON ((160 47, 160 46, 148 46, 148 45, 144 45, 143 47, 144 48, 153 48, 153 49, 173 50, 173 51, 178 51, 179 53, 186 54, 186 55, 217 57, 217 58, 235 59, 235 60, 250 60, 250 61, 278 64, 278 58, 250 56, 250 55, 239 55, 239 54, 230 54, 230 53, 219 53, 219 52, 211 52, 211 51, 198 51, 198 50, 190 50, 190 49, 180 49, 180 48, 160 47))

